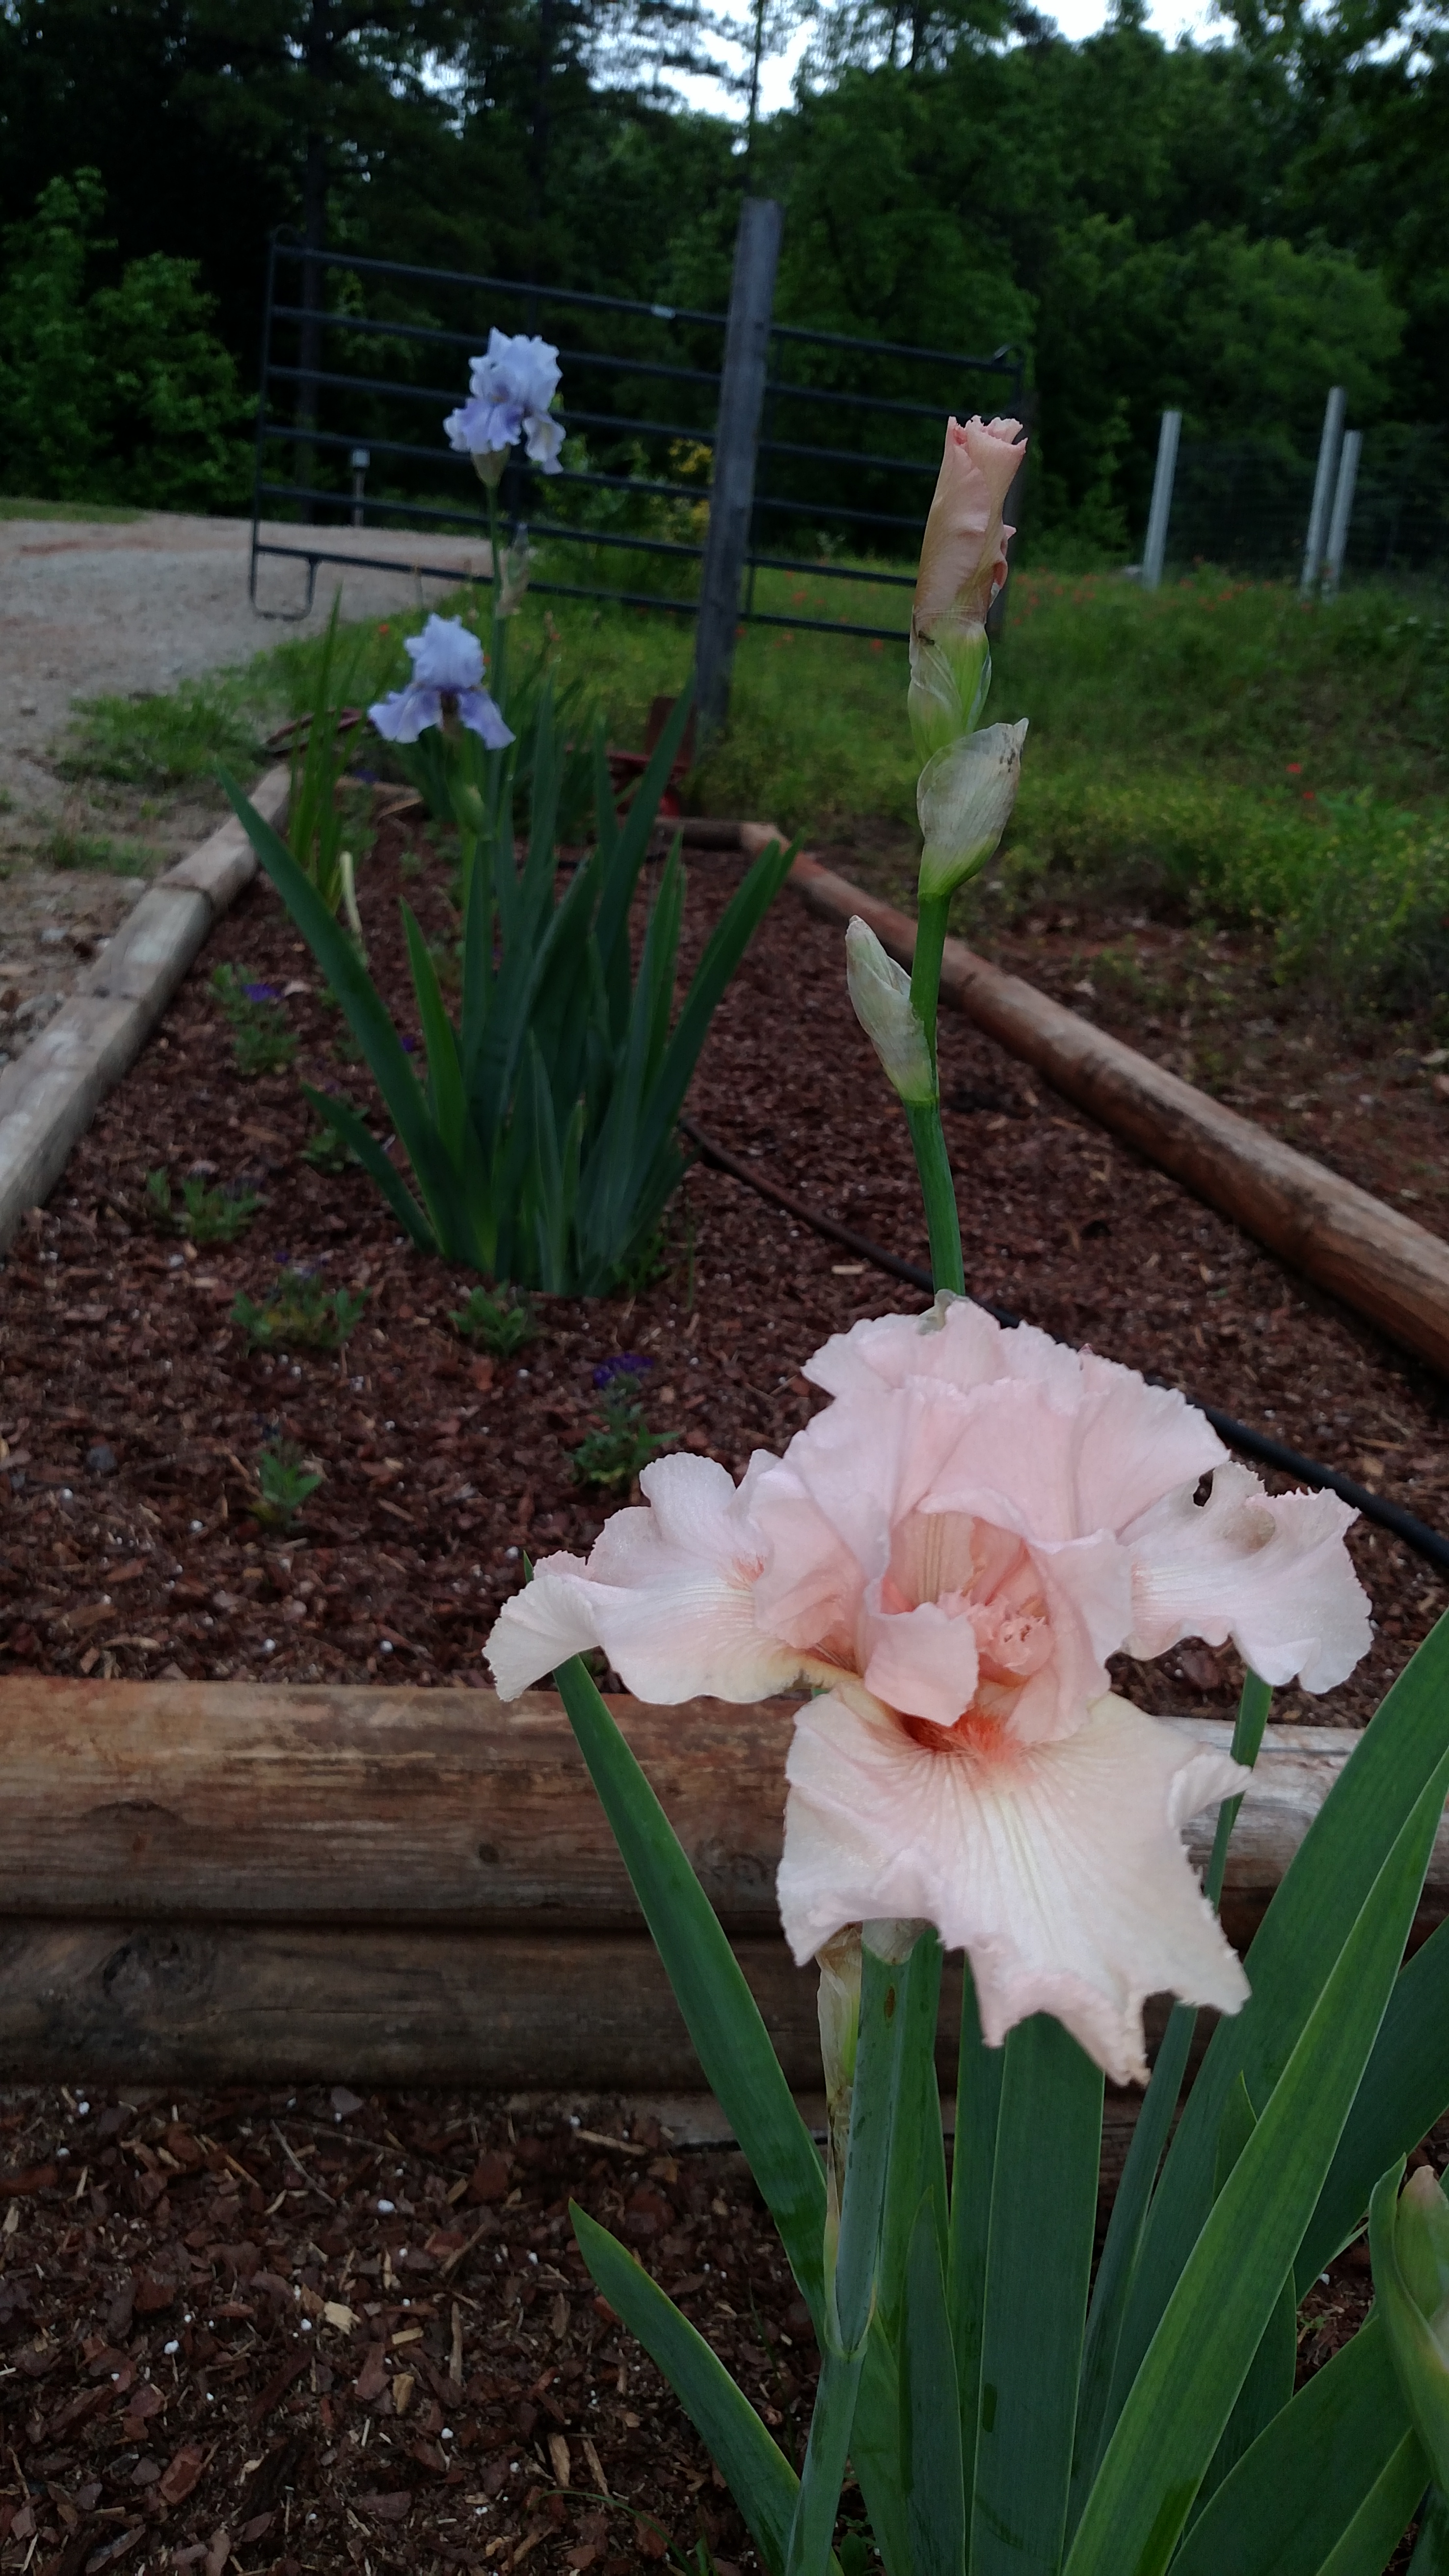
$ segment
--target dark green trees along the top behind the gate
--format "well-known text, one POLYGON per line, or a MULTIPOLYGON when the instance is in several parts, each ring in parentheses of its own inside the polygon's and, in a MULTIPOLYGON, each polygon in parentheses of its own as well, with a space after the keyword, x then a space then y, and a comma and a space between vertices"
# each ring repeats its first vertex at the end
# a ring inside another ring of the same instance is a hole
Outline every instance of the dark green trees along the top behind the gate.
POLYGON ((214 314, 245 384, 276 224, 719 309, 755 188, 786 209, 781 317, 1026 353, 1039 510, 1106 544, 1163 404, 1299 459, 1330 381, 1364 425, 1444 422, 1444 0, 1238 0, 1230 41, 1176 46, 1140 0, 1083 44, 1024 0, 815 0, 748 149, 673 93, 714 62, 748 95, 807 5, 0 0, 0 368, 39 330, 44 222, 90 296, 160 296, 170 343, 214 314))

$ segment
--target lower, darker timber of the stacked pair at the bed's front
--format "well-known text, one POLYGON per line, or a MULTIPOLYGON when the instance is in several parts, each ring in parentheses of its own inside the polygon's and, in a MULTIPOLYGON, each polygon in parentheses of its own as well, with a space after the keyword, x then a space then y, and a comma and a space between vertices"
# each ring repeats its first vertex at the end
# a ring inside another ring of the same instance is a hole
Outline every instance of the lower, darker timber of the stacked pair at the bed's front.
MULTIPOLYGON (((815 1971, 794 1968, 779 1935, 737 1955, 789 2081, 817 2087, 815 1971)), ((959 1978, 949 2030, 957 2017, 959 1978)), ((704 2081, 642 1932, 0 1919, 0 2079, 72 2076, 593 2092, 704 2081)))

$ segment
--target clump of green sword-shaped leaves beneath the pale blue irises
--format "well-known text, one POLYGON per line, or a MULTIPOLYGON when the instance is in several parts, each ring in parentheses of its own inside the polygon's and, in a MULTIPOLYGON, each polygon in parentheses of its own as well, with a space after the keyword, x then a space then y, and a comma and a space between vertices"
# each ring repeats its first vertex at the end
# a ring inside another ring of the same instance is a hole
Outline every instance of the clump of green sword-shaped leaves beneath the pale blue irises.
MULTIPOLYGON (((413 1185, 343 1100, 309 1100, 351 1144, 425 1252, 523 1288, 603 1296, 639 1265, 683 1177, 676 1118, 714 1007, 789 868, 773 845, 714 927, 673 1015, 683 863, 665 860, 642 956, 632 912, 655 814, 688 716, 681 698, 624 822, 603 739, 593 752, 593 850, 559 876, 565 744, 544 685, 531 739, 523 860, 513 840, 513 744, 482 783, 459 770, 462 1005, 402 907, 423 1030, 418 1077, 353 943, 263 819, 235 791, 253 848, 338 997, 376 1079, 413 1185)), ((472 768, 469 750, 469 768, 472 768)))

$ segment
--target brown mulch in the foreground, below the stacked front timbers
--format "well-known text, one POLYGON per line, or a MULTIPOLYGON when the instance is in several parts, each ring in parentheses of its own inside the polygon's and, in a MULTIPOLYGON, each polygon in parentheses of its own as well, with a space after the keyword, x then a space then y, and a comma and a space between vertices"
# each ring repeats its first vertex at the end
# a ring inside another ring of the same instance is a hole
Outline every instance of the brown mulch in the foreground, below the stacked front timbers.
POLYGON ((0 2097, 0 2568, 629 2576, 704 2540, 755 2576, 570 2200, 799 2455, 810 2316, 730 2148, 616 2102, 0 2097))

